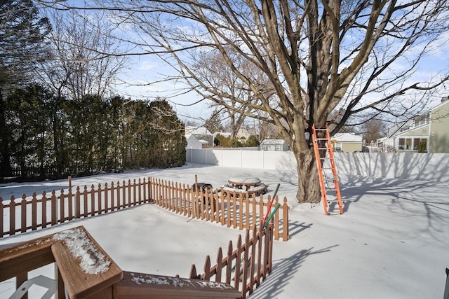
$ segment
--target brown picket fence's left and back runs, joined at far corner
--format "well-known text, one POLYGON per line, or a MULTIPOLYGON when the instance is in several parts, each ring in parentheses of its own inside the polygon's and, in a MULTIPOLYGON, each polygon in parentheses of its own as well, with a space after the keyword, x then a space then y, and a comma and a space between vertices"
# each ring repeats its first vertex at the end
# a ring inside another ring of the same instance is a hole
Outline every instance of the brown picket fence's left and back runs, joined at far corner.
MULTIPOLYGON (((15 235, 38 228, 58 225, 74 219, 105 214, 110 211, 125 209, 139 204, 154 202, 161 207, 188 217, 215 221, 227 227, 253 229, 257 226, 264 212, 267 211, 270 197, 264 202, 262 195, 257 201, 249 193, 220 193, 206 191, 196 192, 180 183, 161 181, 160 179, 134 179, 128 182, 105 183, 76 187, 67 191, 53 190, 50 194, 43 192, 39 197, 22 195, 11 196, 9 201, 0 197, 0 237, 15 235), (6 204, 4 203, 6 202, 6 204), (211 203, 211 204, 210 204, 211 203)), ((279 203, 275 198, 275 206, 279 203)), ((274 214, 274 238, 288 240, 288 205, 283 199, 281 208, 274 214)))

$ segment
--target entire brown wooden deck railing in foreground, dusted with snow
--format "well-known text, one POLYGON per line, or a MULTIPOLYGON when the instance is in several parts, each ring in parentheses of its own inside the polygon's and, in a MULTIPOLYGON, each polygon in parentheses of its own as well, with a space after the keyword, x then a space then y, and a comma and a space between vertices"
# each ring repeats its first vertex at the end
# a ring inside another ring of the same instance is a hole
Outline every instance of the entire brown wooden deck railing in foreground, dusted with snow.
POLYGON ((38 281, 29 272, 52 263, 54 279, 37 277, 48 298, 241 298, 222 282, 123 272, 82 226, 0 249, 0 282, 15 278, 12 295, 22 298, 38 281))

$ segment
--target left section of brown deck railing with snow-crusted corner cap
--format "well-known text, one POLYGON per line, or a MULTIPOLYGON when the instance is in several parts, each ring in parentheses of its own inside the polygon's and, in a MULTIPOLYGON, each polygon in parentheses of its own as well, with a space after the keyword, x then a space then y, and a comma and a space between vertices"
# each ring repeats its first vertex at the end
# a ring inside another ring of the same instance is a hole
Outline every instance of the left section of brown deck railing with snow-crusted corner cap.
MULTIPOLYGON (((0 249, 0 282, 15 278, 16 293, 25 293, 29 272, 55 265, 57 298, 86 298, 112 291, 123 277, 121 269, 82 226, 0 249)), ((48 279, 51 281, 51 279, 48 279)), ((14 298, 16 298, 14 297, 14 298)), ((102 297, 106 298, 106 297, 102 297)))

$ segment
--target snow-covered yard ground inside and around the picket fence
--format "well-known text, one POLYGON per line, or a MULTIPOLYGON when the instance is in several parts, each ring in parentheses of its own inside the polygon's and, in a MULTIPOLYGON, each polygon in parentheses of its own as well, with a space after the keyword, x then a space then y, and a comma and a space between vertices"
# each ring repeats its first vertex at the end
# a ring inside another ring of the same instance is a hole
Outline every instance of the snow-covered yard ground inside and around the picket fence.
MULTIPOLYGON (((74 178, 73 186, 154 176, 219 187, 232 176, 280 183, 290 205, 290 240, 274 242, 273 272, 250 298, 443 298, 449 267, 449 183, 340 176, 344 215, 324 216, 323 207, 297 204, 295 174, 276 170, 185 165, 123 174, 74 178)), ((31 195, 67 188, 67 181, 8 183, 0 196, 31 195)), ((72 221, 0 239, 6 246, 83 225, 123 270, 187 277, 192 263, 215 260, 219 246, 236 242, 241 230, 173 214, 154 204, 72 221)), ((53 267, 34 274, 53 277, 53 267)), ((0 284, 0 298, 13 282, 0 284)), ((34 291, 35 294, 39 293, 34 291)), ((30 296, 33 298, 33 296, 30 296)))

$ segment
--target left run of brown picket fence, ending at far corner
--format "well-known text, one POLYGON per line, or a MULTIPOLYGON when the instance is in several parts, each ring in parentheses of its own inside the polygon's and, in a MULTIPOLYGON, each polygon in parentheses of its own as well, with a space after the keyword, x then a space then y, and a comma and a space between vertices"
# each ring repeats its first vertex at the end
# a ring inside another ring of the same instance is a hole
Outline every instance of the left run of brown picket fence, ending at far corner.
POLYGON ((36 193, 23 194, 20 199, 12 195, 7 204, 0 197, 0 237, 145 204, 150 202, 149 190, 149 179, 144 178, 98 184, 97 188, 78 186, 74 192, 72 188, 50 194, 44 191, 40 197, 36 193))

